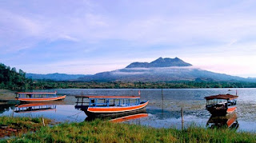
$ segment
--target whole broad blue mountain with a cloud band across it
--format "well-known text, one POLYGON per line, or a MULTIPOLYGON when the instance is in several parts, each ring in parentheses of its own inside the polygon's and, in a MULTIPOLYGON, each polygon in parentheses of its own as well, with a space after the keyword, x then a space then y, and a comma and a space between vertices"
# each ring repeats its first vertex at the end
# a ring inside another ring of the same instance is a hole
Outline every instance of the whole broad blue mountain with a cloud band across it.
POLYGON ((254 81, 195 68, 179 58, 158 58, 154 62, 133 62, 122 70, 79 77, 78 81, 254 81))

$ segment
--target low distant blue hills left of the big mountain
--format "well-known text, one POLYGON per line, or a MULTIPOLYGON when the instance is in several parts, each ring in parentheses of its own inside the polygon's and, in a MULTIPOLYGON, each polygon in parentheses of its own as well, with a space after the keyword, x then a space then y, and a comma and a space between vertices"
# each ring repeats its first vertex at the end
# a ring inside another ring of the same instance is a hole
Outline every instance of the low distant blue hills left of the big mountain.
POLYGON ((70 81, 76 80, 78 77, 84 77, 84 74, 65 74, 65 73, 49 73, 49 74, 35 74, 35 73, 26 73, 27 78, 31 79, 48 79, 53 81, 70 81))

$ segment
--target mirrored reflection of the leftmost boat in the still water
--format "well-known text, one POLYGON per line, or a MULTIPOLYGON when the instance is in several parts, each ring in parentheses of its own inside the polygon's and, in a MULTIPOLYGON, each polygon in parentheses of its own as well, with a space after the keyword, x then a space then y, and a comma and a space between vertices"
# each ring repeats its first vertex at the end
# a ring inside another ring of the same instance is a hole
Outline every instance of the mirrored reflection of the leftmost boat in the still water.
POLYGON ((30 113, 39 111, 56 110, 56 105, 50 103, 30 103, 24 105, 16 105, 15 113, 30 113))

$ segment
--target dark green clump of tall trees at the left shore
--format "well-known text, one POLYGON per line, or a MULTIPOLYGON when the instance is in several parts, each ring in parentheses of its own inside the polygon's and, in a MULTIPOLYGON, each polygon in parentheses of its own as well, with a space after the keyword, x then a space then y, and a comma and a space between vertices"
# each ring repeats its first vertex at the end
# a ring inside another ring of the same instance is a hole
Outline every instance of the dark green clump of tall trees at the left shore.
POLYGON ((0 63, 0 89, 31 89, 33 81, 26 78, 25 74, 22 70, 17 72, 15 68, 0 63))

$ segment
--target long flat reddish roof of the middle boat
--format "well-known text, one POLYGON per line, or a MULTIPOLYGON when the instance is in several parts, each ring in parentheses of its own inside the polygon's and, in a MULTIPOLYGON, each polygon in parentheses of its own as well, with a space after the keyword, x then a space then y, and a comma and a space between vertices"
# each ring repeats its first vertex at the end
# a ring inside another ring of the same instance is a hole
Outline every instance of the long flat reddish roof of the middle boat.
POLYGON ((82 98, 82 97, 86 97, 86 98, 94 98, 94 99, 138 99, 140 97, 138 96, 97 96, 97 95, 80 95, 80 96, 76 96, 76 98, 82 98))

